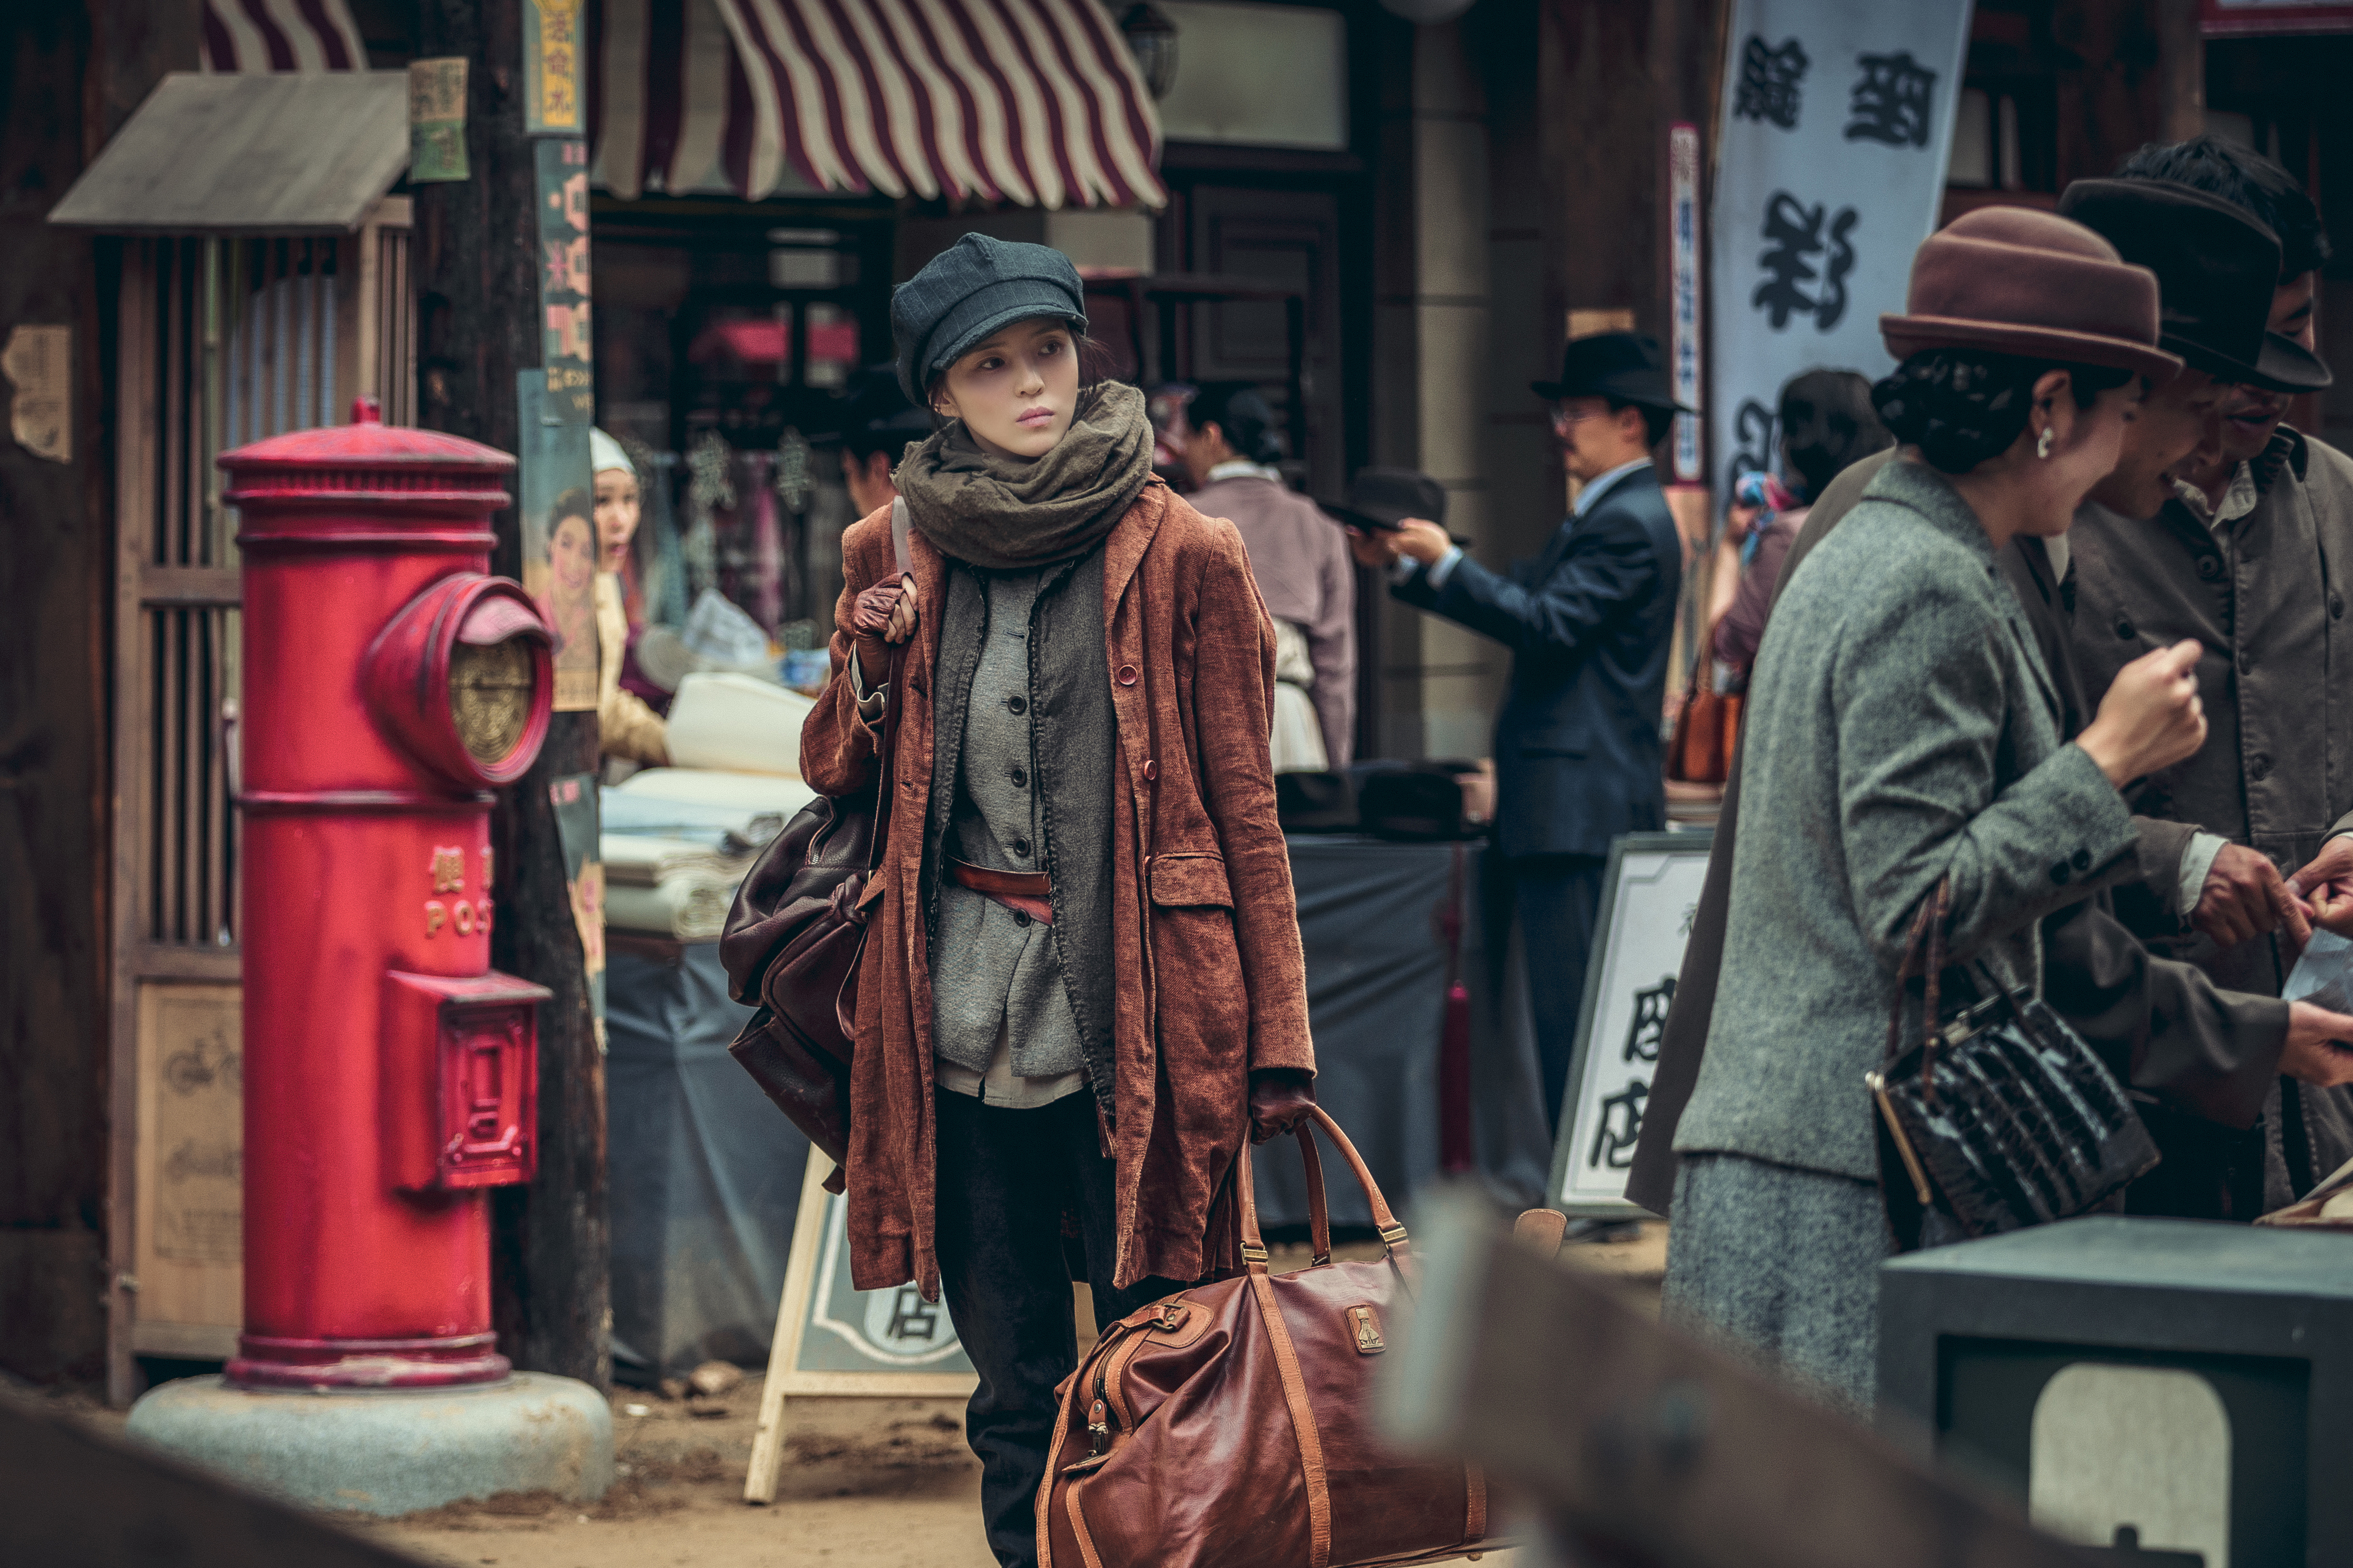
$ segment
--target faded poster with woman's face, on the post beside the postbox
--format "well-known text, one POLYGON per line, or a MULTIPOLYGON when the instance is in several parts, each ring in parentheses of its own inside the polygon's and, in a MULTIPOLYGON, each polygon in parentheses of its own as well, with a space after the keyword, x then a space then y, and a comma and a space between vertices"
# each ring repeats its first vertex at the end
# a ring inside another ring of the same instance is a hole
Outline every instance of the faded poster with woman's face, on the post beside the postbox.
POLYGON ((546 424, 546 374, 515 374, 522 426, 522 589, 555 633, 555 711, 595 709, 595 497, 588 426, 546 424))

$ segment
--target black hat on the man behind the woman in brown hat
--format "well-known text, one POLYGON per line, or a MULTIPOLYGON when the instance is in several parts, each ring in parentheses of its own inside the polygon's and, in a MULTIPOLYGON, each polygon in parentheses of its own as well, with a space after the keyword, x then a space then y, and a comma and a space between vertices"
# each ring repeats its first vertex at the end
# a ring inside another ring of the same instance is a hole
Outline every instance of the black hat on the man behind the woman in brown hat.
POLYGON ((2167 353, 2224 381, 2301 393, 2329 384, 2304 344, 2266 332, 2280 238, 2245 210, 2169 179, 2078 179, 2059 214, 2158 275, 2167 353))

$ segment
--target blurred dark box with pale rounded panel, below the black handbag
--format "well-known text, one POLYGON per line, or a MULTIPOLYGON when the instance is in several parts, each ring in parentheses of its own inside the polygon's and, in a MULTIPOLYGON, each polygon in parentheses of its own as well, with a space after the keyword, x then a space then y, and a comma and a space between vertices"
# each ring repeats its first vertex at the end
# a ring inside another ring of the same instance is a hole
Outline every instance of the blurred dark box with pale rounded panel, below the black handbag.
POLYGON ((1880 1410, 2122 1561, 2353 1561, 2353 1248, 2099 1215, 1911 1253, 1880 1269, 1880 1410))

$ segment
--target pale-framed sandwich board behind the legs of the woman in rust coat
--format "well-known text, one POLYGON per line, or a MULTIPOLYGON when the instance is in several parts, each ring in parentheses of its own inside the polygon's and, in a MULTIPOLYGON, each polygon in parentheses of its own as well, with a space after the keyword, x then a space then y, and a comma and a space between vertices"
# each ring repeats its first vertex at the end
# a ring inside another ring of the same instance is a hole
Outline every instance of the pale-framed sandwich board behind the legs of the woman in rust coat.
POLYGON ((774 1502, 784 1464, 784 1401, 791 1396, 969 1398, 979 1387, 955 1340, 946 1302, 915 1285, 859 1290, 849 1283, 849 1201, 826 1191, 833 1161, 809 1151, 784 1267, 776 1337, 760 1384, 746 1502, 774 1502))

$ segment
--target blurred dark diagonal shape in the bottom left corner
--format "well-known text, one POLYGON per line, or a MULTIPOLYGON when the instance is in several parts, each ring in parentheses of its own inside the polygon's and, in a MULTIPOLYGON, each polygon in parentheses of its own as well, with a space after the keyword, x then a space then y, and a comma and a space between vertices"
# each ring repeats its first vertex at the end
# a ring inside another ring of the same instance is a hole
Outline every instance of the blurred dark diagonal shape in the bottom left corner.
POLYGON ((7 1561, 42 1568, 416 1568, 280 1502, 0 1394, 7 1561))

